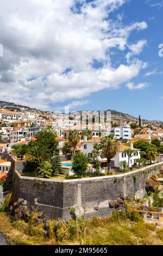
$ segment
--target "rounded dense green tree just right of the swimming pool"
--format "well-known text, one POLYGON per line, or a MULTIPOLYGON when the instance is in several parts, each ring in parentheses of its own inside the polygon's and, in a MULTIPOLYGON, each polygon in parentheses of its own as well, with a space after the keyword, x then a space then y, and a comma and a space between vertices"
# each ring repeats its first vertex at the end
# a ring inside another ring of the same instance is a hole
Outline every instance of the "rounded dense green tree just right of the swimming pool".
POLYGON ((89 163, 89 159, 83 153, 77 153, 73 157, 73 171, 80 178, 86 176, 87 174, 87 164, 89 163))

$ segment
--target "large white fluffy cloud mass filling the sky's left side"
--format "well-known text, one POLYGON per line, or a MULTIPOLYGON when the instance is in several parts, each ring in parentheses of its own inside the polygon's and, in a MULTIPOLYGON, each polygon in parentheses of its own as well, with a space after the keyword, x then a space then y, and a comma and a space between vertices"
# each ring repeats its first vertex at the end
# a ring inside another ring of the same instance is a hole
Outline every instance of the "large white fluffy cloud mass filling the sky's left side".
POLYGON ((131 45, 129 36, 146 29, 146 22, 123 25, 108 19, 126 0, 78 2, 80 9, 75 0, 1 1, 1 100, 41 109, 72 100, 75 107, 74 102, 86 102, 78 99, 117 89, 139 74, 145 64, 131 57, 146 41, 131 45), (110 50, 127 47, 130 62, 113 68, 110 50), (93 67, 95 60, 102 68, 93 67))

